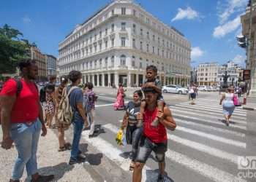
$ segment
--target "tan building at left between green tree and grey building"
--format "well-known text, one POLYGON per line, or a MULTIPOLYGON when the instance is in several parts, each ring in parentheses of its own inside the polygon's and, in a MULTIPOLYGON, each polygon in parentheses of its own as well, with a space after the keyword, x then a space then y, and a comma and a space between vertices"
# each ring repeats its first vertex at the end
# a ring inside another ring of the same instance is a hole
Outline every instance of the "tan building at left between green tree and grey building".
POLYGON ((46 79, 47 76, 47 63, 45 55, 43 55, 37 47, 30 48, 31 59, 36 60, 38 66, 39 79, 46 79))

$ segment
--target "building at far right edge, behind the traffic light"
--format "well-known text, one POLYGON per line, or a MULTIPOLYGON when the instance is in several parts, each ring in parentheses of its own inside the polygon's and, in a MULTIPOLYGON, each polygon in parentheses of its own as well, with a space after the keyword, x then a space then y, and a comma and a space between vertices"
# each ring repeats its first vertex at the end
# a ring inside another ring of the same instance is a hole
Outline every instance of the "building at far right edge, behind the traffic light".
POLYGON ((249 3, 246 7, 246 13, 241 15, 242 33, 249 41, 246 49, 246 69, 251 71, 251 79, 249 80, 250 95, 256 96, 256 1, 249 3), (252 22, 252 24, 251 24, 252 22))

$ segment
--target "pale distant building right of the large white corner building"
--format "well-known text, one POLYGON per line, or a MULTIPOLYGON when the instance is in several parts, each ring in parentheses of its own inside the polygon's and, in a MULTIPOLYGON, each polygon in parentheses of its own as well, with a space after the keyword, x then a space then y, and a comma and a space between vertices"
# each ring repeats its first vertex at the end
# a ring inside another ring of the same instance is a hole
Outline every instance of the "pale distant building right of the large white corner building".
POLYGON ((199 85, 217 85, 218 63, 202 63, 197 67, 197 83, 199 85))

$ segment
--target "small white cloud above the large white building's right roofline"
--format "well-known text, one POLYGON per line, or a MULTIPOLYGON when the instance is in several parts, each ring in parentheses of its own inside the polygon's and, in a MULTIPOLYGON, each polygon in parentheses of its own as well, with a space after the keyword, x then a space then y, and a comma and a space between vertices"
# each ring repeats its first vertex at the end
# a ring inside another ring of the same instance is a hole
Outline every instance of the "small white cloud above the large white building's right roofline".
POLYGON ((176 17, 173 17, 172 22, 176 20, 182 20, 185 18, 187 18, 188 20, 194 20, 196 18, 199 18, 199 13, 191 7, 187 7, 187 9, 178 8, 178 13, 176 17))

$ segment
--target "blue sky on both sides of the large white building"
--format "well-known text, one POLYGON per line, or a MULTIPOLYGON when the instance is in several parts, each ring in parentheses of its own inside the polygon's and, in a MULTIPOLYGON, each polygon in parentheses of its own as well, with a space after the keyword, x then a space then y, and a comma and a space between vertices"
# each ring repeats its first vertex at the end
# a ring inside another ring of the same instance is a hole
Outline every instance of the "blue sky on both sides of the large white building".
MULTIPOLYGON (((25 39, 47 54, 58 56, 64 37, 110 0, 1 1, 0 26, 17 28, 25 39)), ((234 60, 244 66, 245 50, 237 46, 239 15, 248 0, 136 0, 167 25, 173 25, 192 44, 192 66, 234 60)))

